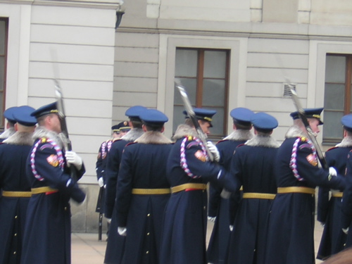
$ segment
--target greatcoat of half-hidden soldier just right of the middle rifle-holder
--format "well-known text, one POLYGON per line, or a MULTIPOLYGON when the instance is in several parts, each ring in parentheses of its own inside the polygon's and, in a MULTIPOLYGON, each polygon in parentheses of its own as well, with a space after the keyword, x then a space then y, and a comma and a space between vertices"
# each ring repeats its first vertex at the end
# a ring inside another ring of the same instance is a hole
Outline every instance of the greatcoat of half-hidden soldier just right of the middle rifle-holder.
MULTIPOLYGON (((241 131, 242 130, 235 130, 234 132, 241 131)), ((247 132, 247 130, 243 131, 247 132)), ((219 164, 224 166, 225 170, 230 171, 234 149, 236 149, 239 144, 244 144, 252 135, 248 131, 244 136, 246 137, 242 137, 242 140, 225 139, 216 144, 220 152, 219 164)), ((216 217, 216 219, 206 253, 208 262, 214 264, 225 263, 231 234, 230 225, 233 225, 234 215, 236 214, 239 202, 239 192, 231 194, 232 197, 230 200, 222 198, 220 196, 221 191, 222 187, 210 183, 208 216, 216 217), (232 205, 231 208, 229 208, 229 203, 232 205)))

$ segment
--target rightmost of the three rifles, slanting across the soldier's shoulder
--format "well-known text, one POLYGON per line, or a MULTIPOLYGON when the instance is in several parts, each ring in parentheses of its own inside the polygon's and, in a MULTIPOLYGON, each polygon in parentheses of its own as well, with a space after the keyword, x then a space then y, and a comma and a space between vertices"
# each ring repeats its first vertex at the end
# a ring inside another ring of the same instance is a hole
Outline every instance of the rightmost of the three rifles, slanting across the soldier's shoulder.
POLYGON ((315 133, 313 132, 312 128, 309 125, 308 119, 306 117, 306 112, 304 111, 304 109, 301 106, 300 101, 298 100, 297 93, 290 83, 288 83, 288 85, 289 85, 289 88, 291 91, 291 98, 294 101, 294 105, 296 106, 296 109, 298 111, 298 116, 302 120, 303 125, 306 127, 307 134, 308 134, 310 141, 315 146, 315 150, 317 152, 318 159, 320 161, 320 165, 322 165, 322 168, 329 170, 329 165, 327 165, 327 161, 325 161, 324 155, 322 154, 322 150, 320 149, 320 146, 317 142, 317 139, 315 138, 315 133))

